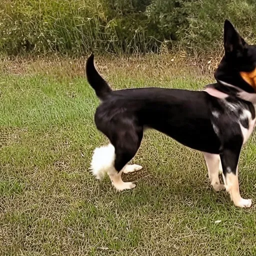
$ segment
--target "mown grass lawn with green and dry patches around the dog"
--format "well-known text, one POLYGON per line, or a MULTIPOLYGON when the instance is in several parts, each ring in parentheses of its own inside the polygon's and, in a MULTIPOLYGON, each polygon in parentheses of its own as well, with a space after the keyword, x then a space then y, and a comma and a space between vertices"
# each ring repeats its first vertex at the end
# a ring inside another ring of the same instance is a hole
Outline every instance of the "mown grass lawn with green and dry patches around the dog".
MULTIPOLYGON (((175 60, 157 63, 110 59, 98 67, 113 88, 200 89, 212 80, 175 60)), ((256 255, 254 134, 239 162, 249 209, 213 191, 199 152, 156 131, 145 133, 132 160, 143 169, 124 175, 137 186, 116 192, 88 171, 93 149, 107 141, 94 126, 98 99, 82 63, 4 65, 0 255, 256 255)))

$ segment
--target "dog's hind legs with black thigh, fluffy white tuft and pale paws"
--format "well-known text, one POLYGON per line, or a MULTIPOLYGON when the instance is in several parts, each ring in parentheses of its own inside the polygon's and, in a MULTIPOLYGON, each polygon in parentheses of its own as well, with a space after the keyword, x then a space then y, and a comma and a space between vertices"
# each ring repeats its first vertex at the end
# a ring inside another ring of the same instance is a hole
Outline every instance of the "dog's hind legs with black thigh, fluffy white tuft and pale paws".
POLYGON ((117 190, 135 187, 132 182, 124 182, 121 178, 123 171, 131 172, 142 168, 140 165, 126 165, 139 148, 143 128, 137 126, 126 126, 119 129, 111 129, 112 144, 96 148, 92 156, 91 172, 100 179, 107 173, 113 186, 117 190), (113 134, 114 133, 114 134, 113 134), (114 139, 113 139, 114 138, 114 139))

